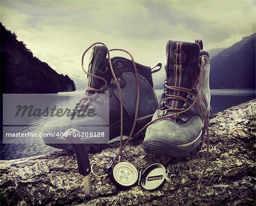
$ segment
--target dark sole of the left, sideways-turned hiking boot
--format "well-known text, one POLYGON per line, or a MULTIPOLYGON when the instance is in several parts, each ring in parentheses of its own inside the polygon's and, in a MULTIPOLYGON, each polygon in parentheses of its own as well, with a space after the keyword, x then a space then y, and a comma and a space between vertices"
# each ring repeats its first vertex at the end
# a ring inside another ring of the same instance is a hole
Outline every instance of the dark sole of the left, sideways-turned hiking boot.
MULTIPOLYGON (((139 131, 139 129, 141 129, 145 124, 147 124, 148 122, 151 121, 152 119, 152 115, 148 115, 148 116, 144 116, 141 118, 137 119, 137 127, 135 128, 134 134, 137 133, 139 131)), ((123 129, 123 135, 124 136, 128 136, 130 133, 130 128, 131 125, 133 124, 133 119, 129 118, 129 119, 125 119, 123 120, 123 125, 124 125, 124 129, 123 129)), ((120 131, 120 126, 119 126, 119 122, 114 123, 112 125, 109 126, 109 131, 113 132, 113 137, 118 137, 118 133, 120 131)), ((139 144, 139 140, 142 140, 144 138, 144 133, 140 134, 137 138, 137 141, 133 142, 133 145, 137 145, 139 144)), ((120 139, 116 138, 116 141, 113 142, 113 139, 111 138, 111 140, 109 142, 111 142, 110 144, 86 144, 86 150, 87 152, 90 153, 97 153, 97 152, 101 152, 104 149, 107 148, 117 148, 119 145, 116 144, 116 142, 119 142, 120 139)), ((68 150, 68 151, 72 151, 73 148, 70 144, 68 144, 67 140, 64 137, 57 137, 55 138, 55 143, 49 143, 47 138, 42 137, 42 140, 44 142, 44 144, 48 145, 48 146, 52 146, 53 148, 57 148, 57 149, 64 149, 64 150, 68 150)), ((84 140, 84 142, 86 142, 86 138, 81 138, 81 140, 84 140)))

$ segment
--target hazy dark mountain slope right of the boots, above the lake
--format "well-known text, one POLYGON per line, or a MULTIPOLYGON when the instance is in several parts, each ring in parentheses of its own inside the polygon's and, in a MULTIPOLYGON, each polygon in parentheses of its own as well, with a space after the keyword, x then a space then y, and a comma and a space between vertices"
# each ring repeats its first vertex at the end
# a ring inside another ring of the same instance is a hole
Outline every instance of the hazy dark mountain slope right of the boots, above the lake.
POLYGON ((255 89, 255 33, 210 60, 211 89, 255 89))

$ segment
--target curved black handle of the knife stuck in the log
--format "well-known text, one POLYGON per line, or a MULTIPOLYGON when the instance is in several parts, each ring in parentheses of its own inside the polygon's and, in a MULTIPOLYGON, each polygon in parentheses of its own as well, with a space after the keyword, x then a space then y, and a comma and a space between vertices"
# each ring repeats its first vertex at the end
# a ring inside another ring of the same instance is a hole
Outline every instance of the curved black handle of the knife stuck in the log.
POLYGON ((82 142, 80 137, 77 137, 73 135, 75 132, 79 132, 77 129, 68 129, 65 131, 65 133, 68 133, 68 135, 65 135, 65 137, 68 142, 71 144, 77 159, 77 165, 79 167, 79 173, 81 175, 88 175, 90 174, 90 161, 89 161, 89 155, 87 153, 86 147, 84 145, 84 142, 82 142), (75 136, 75 137, 74 137, 75 136))

